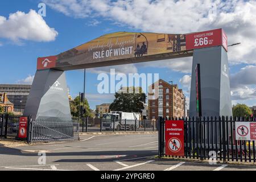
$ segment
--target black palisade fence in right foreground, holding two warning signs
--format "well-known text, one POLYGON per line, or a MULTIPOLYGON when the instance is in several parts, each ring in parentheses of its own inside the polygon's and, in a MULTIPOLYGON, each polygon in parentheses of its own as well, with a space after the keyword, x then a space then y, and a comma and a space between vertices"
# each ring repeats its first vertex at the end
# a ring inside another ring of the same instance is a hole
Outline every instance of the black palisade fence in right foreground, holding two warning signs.
MULTIPOLYGON (((179 158, 256 162, 254 140, 236 140, 235 123, 255 118, 207 117, 172 118, 184 121, 184 156, 179 158)), ((166 119, 159 118, 159 157, 166 156, 164 132, 166 119)))

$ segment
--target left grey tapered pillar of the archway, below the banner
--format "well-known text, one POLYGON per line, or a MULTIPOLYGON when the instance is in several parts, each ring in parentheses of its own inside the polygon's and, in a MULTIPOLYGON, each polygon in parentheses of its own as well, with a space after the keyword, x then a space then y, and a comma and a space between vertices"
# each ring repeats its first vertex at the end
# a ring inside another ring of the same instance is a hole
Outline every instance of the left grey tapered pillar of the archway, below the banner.
POLYGON ((24 115, 32 115, 33 119, 71 121, 68 88, 63 71, 36 71, 24 115))

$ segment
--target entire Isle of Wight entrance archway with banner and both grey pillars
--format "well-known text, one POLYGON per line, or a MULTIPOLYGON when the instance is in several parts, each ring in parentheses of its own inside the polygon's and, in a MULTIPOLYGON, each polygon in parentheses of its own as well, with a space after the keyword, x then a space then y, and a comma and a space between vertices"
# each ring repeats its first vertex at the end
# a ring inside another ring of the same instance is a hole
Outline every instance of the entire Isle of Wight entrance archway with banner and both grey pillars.
POLYGON ((220 28, 190 34, 115 32, 56 56, 39 57, 24 115, 71 120, 64 71, 193 56, 190 116, 199 113, 196 72, 200 65, 201 115, 232 115, 228 39, 220 28))

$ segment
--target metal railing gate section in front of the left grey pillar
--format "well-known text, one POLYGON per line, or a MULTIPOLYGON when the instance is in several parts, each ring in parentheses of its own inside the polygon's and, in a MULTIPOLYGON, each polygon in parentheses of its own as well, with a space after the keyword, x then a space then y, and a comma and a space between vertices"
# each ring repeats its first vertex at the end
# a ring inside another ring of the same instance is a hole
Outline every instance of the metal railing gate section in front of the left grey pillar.
POLYGON ((79 123, 37 119, 30 124, 29 143, 79 140, 79 123))

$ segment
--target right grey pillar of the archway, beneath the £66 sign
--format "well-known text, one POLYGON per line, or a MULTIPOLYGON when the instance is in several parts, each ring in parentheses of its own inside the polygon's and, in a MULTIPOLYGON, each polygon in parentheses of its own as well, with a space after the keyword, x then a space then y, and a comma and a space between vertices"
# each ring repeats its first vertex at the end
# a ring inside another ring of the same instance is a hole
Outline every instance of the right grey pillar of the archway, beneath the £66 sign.
POLYGON ((232 116, 228 55, 222 46, 193 52, 189 116, 196 117, 196 65, 201 73, 201 110, 204 117, 232 116))

